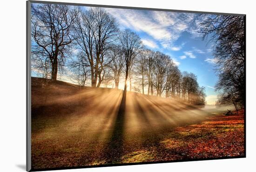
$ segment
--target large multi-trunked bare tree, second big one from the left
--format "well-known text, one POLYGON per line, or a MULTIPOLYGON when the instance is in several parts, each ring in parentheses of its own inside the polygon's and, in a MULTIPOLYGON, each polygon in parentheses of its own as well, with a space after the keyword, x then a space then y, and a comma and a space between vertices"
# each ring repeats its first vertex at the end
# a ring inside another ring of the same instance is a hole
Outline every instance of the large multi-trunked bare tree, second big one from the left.
POLYGON ((74 36, 79 48, 86 53, 90 64, 91 86, 100 87, 104 67, 108 65, 105 55, 118 32, 114 17, 103 8, 80 9, 75 20, 74 36), (98 83, 97 83, 98 82, 98 83))

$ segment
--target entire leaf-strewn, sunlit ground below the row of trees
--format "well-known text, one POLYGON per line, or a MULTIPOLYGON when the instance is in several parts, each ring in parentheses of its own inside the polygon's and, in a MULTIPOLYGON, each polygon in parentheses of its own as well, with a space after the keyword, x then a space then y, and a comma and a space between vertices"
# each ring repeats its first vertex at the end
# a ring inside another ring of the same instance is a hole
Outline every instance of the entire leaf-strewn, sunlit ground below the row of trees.
POLYGON ((32 78, 32 169, 244 156, 244 115, 32 78))

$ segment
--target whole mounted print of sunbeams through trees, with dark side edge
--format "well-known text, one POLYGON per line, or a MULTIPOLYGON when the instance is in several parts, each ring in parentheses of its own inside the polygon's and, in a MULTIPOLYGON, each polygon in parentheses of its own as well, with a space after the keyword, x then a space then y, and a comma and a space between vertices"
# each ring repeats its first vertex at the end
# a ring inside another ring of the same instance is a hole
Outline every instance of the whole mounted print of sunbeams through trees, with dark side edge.
POLYGON ((245 157, 245 15, 27 1, 27 171, 245 157))

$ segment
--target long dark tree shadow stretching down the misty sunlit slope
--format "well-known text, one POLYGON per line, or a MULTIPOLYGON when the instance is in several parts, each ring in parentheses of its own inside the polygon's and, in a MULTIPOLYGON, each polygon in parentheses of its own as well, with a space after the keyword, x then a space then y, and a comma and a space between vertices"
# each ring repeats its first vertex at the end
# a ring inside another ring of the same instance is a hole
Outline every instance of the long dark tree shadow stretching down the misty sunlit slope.
POLYGON ((113 131, 110 139, 106 144, 104 156, 108 163, 118 162, 124 153, 124 120, 126 108, 126 94, 123 92, 119 110, 116 114, 115 124, 113 124, 113 131))

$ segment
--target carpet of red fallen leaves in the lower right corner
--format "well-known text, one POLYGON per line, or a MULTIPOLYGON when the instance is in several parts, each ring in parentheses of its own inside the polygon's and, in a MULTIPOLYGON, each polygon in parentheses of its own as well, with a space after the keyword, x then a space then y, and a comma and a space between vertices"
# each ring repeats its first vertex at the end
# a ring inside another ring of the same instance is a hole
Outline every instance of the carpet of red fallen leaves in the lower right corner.
POLYGON ((162 143, 170 151, 164 160, 244 156, 244 115, 217 115, 177 127, 162 143))

